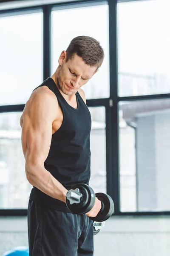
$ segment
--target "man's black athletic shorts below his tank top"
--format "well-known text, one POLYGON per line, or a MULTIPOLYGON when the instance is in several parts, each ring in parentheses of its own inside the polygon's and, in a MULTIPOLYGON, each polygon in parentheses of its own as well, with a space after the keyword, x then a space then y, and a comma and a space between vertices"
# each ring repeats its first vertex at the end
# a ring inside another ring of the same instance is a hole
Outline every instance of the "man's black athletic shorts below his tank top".
POLYGON ((93 256, 93 221, 28 203, 29 256, 93 256))

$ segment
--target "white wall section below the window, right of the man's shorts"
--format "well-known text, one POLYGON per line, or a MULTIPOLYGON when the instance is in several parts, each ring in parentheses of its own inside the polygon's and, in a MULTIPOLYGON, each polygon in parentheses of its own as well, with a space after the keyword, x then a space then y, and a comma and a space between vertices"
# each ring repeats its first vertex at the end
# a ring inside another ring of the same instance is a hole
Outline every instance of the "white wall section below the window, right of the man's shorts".
POLYGON ((170 216, 115 216, 94 238, 94 256, 169 256, 170 216))

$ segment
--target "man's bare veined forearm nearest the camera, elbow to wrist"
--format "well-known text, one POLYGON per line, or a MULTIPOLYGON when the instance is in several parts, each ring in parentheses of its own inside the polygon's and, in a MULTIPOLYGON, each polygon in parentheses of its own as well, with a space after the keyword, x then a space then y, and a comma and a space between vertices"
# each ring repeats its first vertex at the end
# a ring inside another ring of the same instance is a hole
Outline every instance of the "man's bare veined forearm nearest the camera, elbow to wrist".
POLYGON ((37 189, 40 189, 52 198, 65 202, 68 190, 65 189, 65 187, 62 186, 62 184, 59 183, 59 181, 56 180, 44 167, 26 167, 26 176, 32 186, 37 187, 37 189))

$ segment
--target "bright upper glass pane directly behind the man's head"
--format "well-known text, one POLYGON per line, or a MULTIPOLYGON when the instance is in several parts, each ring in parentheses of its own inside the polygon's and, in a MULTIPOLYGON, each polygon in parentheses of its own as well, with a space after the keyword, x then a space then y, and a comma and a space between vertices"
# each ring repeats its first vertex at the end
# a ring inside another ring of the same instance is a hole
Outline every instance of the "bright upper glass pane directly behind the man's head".
POLYGON ((67 49, 73 38, 79 35, 91 36, 100 42, 105 52, 105 59, 99 71, 82 89, 85 90, 87 99, 109 97, 108 5, 53 11, 51 24, 52 74, 58 67, 59 55, 62 50, 67 49), (63 17, 67 18, 63 19, 63 17))

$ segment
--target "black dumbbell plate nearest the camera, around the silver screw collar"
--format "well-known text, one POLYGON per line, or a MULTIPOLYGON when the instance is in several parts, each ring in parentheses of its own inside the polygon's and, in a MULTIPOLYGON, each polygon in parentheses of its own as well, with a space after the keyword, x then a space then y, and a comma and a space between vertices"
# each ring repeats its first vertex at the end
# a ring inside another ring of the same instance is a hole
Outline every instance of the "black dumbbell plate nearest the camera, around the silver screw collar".
POLYGON ((71 187, 71 189, 79 189, 79 192, 82 193, 80 202, 70 204, 69 200, 66 198, 66 205, 71 212, 75 214, 85 214, 89 212, 95 203, 95 194, 93 189, 86 184, 77 184, 71 187))

